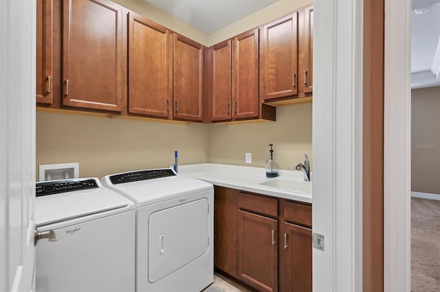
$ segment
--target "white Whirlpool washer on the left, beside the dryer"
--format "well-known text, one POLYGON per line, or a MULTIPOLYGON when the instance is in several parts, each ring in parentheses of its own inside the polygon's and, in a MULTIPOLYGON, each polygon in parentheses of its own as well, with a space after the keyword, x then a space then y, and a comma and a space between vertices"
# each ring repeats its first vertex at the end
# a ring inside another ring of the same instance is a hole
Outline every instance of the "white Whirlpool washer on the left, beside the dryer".
POLYGON ((36 183, 36 291, 135 291, 135 208, 98 178, 36 183))

